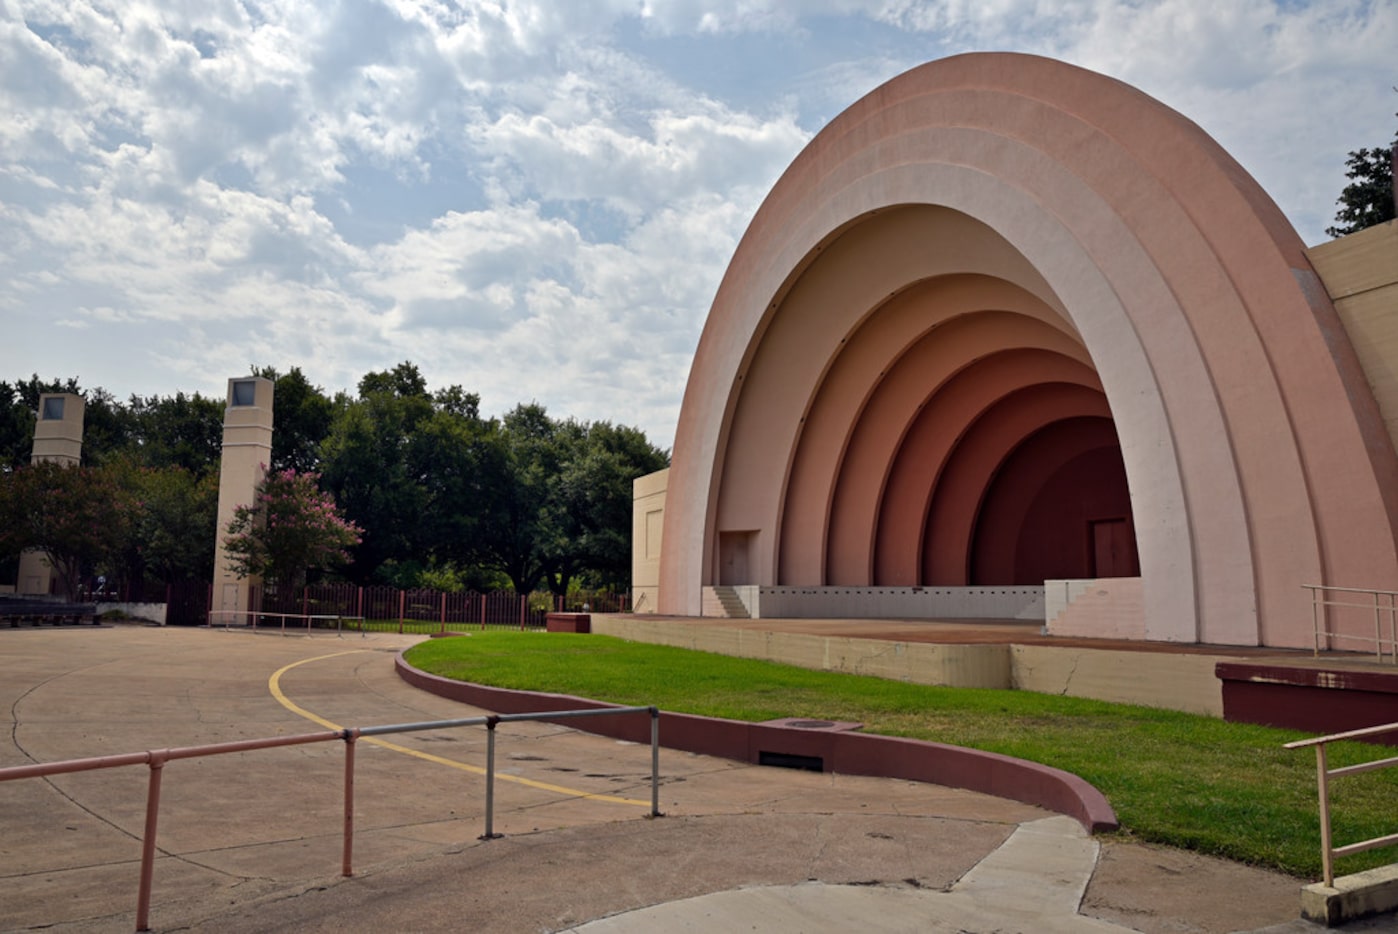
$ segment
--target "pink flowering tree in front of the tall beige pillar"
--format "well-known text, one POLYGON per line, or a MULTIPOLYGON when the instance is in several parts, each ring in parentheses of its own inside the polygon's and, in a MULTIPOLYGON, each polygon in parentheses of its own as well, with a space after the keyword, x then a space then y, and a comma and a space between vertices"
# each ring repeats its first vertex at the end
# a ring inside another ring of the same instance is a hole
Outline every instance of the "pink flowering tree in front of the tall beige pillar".
POLYGON ((319 474, 295 470, 263 478, 256 502, 239 506, 228 523, 224 547, 231 572, 296 589, 306 570, 350 561, 347 549, 359 544, 363 530, 340 515, 317 480, 319 474))

